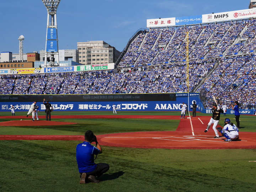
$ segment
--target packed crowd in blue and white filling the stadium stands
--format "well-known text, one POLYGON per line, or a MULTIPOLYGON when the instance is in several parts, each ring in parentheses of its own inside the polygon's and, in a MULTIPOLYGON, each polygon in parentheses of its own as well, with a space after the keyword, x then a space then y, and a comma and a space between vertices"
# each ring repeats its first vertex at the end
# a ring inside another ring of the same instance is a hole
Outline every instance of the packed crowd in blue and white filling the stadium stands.
POLYGON ((256 105, 255 29, 256 19, 150 29, 130 44, 117 73, 0 75, 0 94, 166 93, 189 87, 227 105, 235 100, 256 105))

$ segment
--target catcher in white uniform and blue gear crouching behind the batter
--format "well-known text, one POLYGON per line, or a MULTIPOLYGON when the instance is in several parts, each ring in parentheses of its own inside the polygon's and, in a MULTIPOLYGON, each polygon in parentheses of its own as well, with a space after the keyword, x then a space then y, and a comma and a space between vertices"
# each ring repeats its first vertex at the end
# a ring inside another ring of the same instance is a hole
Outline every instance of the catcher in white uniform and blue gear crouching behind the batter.
POLYGON ((218 127, 218 131, 226 138, 226 142, 231 142, 232 140, 239 139, 239 129, 235 126, 235 124, 230 122, 229 118, 225 118, 224 127, 218 127))

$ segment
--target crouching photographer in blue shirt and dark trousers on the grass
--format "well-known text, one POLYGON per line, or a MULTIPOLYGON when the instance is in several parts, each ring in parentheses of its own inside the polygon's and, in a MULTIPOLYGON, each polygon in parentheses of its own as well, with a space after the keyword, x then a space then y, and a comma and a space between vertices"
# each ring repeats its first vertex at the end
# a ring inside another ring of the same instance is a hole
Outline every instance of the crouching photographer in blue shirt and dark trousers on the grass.
POLYGON ((80 184, 85 183, 88 179, 93 183, 98 183, 96 177, 101 176, 107 172, 110 166, 106 163, 95 164, 94 155, 101 154, 102 149, 100 144, 97 142, 97 138, 91 130, 85 132, 85 141, 76 146, 76 161, 78 164, 78 170, 80 173, 80 184), (96 147, 92 146, 91 143, 95 142, 96 147))

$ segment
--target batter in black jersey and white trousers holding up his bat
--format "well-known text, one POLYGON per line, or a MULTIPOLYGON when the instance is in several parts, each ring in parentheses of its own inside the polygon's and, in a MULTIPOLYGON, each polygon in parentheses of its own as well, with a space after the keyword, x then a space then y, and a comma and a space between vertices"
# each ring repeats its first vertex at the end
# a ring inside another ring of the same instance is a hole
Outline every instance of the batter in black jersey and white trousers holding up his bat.
POLYGON ((217 107, 216 103, 213 103, 212 113, 213 113, 213 116, 210 119, 210 121, 208 123, 208 126, 207 126, 206 130, 204 130, 204 132, 206 133, 209 130, 211 124, 213 123, 213 130, 214 130, 214 133, 215 133, 214 138, 219 138, 218 130, 216 129, 216 127, 219 123, 220 113, 223 113, 223 110, 220 109, 219 107, 217 107))

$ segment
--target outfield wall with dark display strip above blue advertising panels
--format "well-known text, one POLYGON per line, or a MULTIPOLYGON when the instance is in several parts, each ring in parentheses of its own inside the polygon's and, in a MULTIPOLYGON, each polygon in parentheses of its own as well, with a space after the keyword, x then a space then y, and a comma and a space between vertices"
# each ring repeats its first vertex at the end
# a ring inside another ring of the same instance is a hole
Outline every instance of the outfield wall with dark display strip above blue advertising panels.
POLYGON ((199 93, 0 95, 0 112, 11 111, 11 105, 15 111, 28 111, 33 101, 37 101, 39 110, 45 110, 43 98, 55 111, 112 111, 113 104, 117 111, 181 111, 182 102, 188 107, 192 107, 193 101, 200 102, 199 93))

